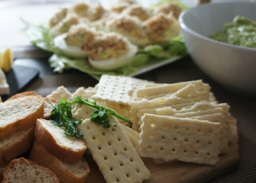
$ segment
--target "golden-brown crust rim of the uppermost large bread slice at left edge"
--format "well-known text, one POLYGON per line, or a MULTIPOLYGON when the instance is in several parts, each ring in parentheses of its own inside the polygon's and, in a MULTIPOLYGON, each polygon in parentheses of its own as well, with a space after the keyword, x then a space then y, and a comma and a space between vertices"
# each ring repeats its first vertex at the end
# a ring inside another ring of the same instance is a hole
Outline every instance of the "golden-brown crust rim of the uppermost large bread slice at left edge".
MULTIPOLYGON (((44 99, 41 96, 36 96, 36 97, 41 98, 41 99, 39 99, 39 101, 41 100, 41 103, 38 103, 38 105, 40 105, 40 106, 38 107, 38 109, 36 111, 29 114, 28 116, 26 116, 23 119, 16 120, 16 121, 14 121, 8 125, 5 125, 5 126, 0 126, 0 141, 6 139, 8 137, 11 137, 19 130, 28 129, 31 126, 34 126, 36 119, 44 116, 44 102, 43 102, 44 99)), ((8 102, 8 101, 6 101, 6 102, 8 102)))

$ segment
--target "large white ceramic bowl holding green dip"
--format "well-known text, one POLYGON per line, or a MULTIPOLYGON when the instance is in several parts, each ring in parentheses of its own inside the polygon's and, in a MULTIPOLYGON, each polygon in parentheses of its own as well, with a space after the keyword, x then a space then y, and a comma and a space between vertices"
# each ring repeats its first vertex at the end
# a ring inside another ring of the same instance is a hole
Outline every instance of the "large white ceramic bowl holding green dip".
POLYGON ((256 3, 212 3, 184 11, 179 18, 189 54, 213 80, 256 96, 256 49, 208 38, 234 16, 256 21, 256 3))

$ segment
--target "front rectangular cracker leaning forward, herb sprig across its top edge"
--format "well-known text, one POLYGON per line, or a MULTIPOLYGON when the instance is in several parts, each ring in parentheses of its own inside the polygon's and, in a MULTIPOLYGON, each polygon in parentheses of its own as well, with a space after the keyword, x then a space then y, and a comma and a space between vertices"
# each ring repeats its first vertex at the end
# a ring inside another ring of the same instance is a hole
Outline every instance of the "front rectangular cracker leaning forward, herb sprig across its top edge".
POLYGON ((106 182, 142 182, 150 178, 150 171, 122 126, 111 115, 110 122, 116 127, 104 128, 89 119, 78 126, 106 182))

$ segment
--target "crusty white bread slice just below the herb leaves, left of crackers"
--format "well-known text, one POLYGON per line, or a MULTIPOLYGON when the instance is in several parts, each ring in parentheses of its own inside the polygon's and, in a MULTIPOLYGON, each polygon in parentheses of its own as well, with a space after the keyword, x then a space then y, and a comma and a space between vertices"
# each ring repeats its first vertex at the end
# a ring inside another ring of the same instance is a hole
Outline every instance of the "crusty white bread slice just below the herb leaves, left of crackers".
POLYGON ((35 138, 51 154, 68 163, 76 163, 81 160, 87 149, 84 140, 65 136, 63 129, 45 119, 37 119, 35 138))

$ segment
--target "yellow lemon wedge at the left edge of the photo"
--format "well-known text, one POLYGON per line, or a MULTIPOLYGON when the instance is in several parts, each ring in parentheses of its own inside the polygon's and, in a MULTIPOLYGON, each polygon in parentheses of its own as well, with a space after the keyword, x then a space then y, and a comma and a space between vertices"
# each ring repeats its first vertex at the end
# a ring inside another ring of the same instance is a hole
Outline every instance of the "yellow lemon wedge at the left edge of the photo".
POLYGON ((12 50, 8 48, 3 54, 0 53, 0 68, 5 72, 9 72, 12 69, 13 56, 12 50))

